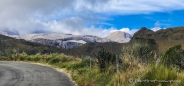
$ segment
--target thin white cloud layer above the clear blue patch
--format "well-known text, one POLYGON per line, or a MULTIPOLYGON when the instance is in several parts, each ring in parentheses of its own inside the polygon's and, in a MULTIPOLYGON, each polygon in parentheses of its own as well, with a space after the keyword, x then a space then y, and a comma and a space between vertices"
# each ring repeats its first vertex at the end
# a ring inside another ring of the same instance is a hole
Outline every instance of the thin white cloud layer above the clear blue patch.
MULTIPOLYGON (((183 0, 106 0, 106 2, 91 3, 85 0, 80 0, 76 10, 85 8, 99 13, 107 14, 137 14, 162 12, 184 9, 183 0)), ((97 2, 94 0, 94 2, 97 2)), ((84 9, 83 9, 84 10, 84 9)))

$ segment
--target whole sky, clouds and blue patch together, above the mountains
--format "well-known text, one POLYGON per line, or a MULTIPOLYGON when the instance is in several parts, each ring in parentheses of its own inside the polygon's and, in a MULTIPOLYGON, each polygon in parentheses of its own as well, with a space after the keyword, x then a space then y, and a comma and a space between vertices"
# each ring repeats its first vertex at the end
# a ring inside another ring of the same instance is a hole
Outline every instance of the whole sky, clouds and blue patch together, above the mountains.
POLYGON ((105 37, 184 26, 184 0, 0 0, 0 29, 105 37))

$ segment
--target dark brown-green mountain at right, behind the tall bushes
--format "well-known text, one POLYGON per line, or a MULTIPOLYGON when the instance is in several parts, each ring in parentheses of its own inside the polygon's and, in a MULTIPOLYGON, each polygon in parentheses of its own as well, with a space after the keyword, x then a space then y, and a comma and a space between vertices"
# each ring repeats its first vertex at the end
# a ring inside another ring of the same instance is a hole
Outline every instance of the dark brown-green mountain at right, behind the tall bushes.
POLYGON ((154 39, 160 53, 165 52, 167 49, 177 44, 182 45, 184 49, 184 27, 160 29, 156 32, 143 27, 134 34, 133 38, 135 37, 154 39))

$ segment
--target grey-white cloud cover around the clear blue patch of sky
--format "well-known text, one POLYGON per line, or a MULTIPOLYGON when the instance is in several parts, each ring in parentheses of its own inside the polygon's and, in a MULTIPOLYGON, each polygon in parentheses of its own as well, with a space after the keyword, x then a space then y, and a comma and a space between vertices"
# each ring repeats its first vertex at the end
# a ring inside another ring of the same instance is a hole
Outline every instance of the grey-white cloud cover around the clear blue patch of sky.
POLYGON ((117 30, 133 34, 138 29, 95 24, 103 23, 105 16, 169 12, 184 9, 183 4, 183 0, 0 0, 0 29, 21 35, 57 32, 105 37, 117 30))

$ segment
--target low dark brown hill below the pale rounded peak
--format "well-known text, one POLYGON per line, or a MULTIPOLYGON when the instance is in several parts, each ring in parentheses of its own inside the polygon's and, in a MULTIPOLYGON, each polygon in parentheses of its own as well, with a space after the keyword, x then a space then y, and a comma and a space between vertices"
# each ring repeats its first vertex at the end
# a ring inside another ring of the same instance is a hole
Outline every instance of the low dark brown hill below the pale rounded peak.
POLYGON ((86 43, 82 46, 68 50, 66 54, 72 54, 74 56, 81 56, 81 55, 94 56, 93 53, 97 53, 98 51, 104 48, 107 51, 119 55, 124 45, 126 44, 116 42, 86 43))

